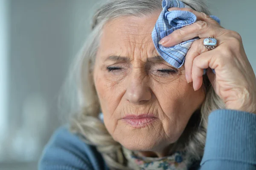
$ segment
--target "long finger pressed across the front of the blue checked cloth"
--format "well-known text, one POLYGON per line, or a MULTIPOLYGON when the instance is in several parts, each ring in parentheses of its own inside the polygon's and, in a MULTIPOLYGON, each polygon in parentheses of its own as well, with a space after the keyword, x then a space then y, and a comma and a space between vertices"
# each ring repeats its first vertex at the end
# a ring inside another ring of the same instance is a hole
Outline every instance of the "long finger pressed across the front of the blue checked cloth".
POLYGON ((224 32, 225 29, 222 29, 218 26, 211 25, 205 21, 197 21, 191 25, 184 26, 181 29, 177 29, 172 34, 163 37, 159 43, 162 46, 170 47, 175 46, 181 42, 191 40, 192 38, 207 38, 207 37, 219 37, 224 32))

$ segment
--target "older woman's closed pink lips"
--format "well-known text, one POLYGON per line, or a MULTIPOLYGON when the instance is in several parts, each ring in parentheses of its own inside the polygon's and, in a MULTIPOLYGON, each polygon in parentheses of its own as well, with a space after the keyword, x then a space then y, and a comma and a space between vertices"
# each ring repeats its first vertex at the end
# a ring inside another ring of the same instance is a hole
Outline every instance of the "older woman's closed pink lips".
POLYGON ((153 115, 127 115, 122 118, 127 124, 131 125, 134 128, 143 128, 148 125, 150 122, 156 120, 157 118, 153 115))

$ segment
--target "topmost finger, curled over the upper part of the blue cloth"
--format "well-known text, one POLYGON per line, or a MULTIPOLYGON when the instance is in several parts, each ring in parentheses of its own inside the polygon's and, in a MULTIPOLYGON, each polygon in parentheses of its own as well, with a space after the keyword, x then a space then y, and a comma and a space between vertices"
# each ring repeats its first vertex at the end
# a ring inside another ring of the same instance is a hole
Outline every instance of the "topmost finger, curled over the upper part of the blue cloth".
POLYGON ((205 14, 204 12, 195 11, 194 9, 191 9, 191 8, 172 7, 172 8, 169 8, 168 11, 188 11, 188 12, 192 12, 193 14, 195 14, 197 20, 202 20, 202 21, 205 21, 205 22, 208 22, 208 23, 215 24, 216 26, 220 26, 219 23, 216 22, 214 19, 212 19, 212 17, 210 17, 209 15, 205 14))

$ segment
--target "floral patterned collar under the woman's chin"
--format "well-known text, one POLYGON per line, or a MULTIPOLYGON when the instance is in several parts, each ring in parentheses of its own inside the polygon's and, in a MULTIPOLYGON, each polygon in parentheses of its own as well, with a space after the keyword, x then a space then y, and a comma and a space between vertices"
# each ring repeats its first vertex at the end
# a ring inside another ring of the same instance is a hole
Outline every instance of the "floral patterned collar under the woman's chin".
POLYGON ((151 158, 141 156, 139 152, 128 150, 125 147, 122 148, 129 167, 134 170, 187 170, 189 166, 186 153, 183 151, 162 158, 151 158))

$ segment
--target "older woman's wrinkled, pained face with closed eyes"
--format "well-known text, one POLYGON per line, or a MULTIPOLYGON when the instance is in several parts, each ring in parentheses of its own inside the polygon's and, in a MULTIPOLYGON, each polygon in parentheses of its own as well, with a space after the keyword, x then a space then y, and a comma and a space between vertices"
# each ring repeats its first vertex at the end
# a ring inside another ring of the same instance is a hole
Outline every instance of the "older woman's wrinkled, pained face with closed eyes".
POLYGON ((93 77, 105 126, 130 150, 160 151, 177 141, 205 96, 186 82, 184 66, 175 69, 154 48, 159 13, 108 22, 96 55, 93 77))

